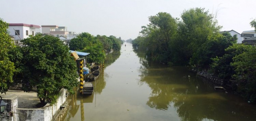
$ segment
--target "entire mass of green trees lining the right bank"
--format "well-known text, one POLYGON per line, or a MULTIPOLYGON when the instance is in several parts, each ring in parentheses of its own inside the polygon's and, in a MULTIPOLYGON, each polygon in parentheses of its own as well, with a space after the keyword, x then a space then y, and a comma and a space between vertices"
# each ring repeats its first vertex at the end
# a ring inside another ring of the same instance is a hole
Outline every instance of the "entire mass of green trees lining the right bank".
MULTIPOLYGON (((166 12, 148 18, 133 46, 146 50, 153 61, 213 73, 245 100, 256 102, 256 48, 236 44, 236 35, 220 32, 216 16, 192 8, 180 19, 166 12)), ((250 25, 256 27, 256 20, 250 25)))

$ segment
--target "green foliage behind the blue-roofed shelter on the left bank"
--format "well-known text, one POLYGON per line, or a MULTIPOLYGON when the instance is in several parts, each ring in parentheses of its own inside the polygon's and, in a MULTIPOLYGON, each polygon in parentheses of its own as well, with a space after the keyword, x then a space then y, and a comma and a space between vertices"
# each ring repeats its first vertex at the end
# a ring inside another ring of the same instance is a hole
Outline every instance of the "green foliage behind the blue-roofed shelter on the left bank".
POLYGON ((106 52, 111 50, 120 50, 122 44, 121 38, 115 36, 92 36, 87 32, 82 32, 76 38, 71 39, 70 49, 90 53, 88 62, 102 63, 106 58, 106 52))

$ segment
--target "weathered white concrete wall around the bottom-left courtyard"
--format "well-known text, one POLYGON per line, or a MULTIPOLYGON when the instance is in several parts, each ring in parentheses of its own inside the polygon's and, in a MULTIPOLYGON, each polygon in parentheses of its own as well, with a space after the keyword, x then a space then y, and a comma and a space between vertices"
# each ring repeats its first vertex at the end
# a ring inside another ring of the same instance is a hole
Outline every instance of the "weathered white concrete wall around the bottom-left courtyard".
MULTIPOLYGON (((4 99, 7 102, 6 113, 0 115, 0 121, 51 121, 54 120, 54 115, 60 112, 60 106, 65 104, 66 90, 60 91, 60 96, 55 105, 46 104, 43 108, 38 109, 21 109, 18 108, 18 97, 13 99, 4 99), (9 112, 12 111, 12 116, 9 112)), ((55 116, 56 117, 56 116, 55 116)))

